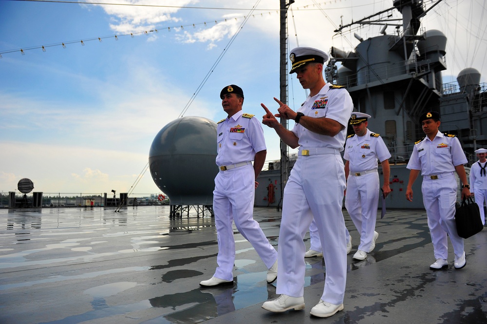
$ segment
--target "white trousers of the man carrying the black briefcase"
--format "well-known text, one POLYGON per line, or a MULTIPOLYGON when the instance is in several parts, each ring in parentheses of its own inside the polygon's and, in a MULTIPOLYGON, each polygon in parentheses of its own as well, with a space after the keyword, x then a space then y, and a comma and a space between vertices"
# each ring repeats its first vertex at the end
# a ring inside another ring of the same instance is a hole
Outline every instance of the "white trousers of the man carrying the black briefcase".
POLYGON ((463 238, 458 236, 455 224, 457 182, 455 175, 436 180, 423 179, 423 203, 428 215, 428 228, 433 242, 434 258, 448 259, 447 234, 456 257, 464 252, 463 238))

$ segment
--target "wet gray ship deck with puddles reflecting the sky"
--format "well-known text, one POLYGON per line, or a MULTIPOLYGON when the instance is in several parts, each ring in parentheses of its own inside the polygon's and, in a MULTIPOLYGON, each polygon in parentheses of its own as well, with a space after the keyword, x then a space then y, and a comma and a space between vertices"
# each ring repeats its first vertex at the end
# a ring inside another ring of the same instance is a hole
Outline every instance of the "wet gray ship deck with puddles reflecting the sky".
MULTIPOLYGON (((431 271, 424 210, 389 210, 360 262, 344 214, 354 245, 345 309, 318 319, 309 311, 323 289, 322 259, 305 259, 306 308, 269 313, 261 305, 277 297, 275 284, 236 230, 234 285, 200 287, 216 267, 211 217, 170 219, 169 206, 0 210, 0 323, 487 323, 487 229, 465 240, 465 268, 453 268, 449 245, 449 268, 431 271)), ((256 208, 254 217, 277 248, 281 212, 256 208)))

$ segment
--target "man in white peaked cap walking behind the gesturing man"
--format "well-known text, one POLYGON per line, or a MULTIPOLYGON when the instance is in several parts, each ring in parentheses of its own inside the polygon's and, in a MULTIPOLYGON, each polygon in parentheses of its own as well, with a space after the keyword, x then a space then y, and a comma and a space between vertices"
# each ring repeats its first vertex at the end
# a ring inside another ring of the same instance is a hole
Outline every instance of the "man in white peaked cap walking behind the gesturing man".
MULTIPOLYGON (((367 126, 370 115, 352 113, 350 125, 355 134, 348 136, 345 143, 345 176, 347 191, 345 208, 360 234, 360 245, 354 254, 355 260, 364 260, 367 253, 375 248, 379 233, 375 231, 377 205, 379 203, 379 174, 377 159, 382 166, 384 196, 391 192, 389 187, 389 158, 391 153, 377 133, 372 133, 367 126)), ((348 231, 347 231, 348 233, 348 231)))

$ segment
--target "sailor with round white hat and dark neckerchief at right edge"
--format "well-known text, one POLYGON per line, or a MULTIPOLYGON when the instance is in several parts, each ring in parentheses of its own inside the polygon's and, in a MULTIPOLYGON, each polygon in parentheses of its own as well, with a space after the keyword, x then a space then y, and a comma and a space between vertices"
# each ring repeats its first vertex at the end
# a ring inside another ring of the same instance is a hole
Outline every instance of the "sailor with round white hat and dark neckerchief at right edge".
POLYGON ((482 224, 485 224, 484 201, 487 202, 487 150, 478 149, 475 153, 479 160, 472 164, 470 168, 470 192, 472 197, 475 197, 477 205, 479 205, 482 224))

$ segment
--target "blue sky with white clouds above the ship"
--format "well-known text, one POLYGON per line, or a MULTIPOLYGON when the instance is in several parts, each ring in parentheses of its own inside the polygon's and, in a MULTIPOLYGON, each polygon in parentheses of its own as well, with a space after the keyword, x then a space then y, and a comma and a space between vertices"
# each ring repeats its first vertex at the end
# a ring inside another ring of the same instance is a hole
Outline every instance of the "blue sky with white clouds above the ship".
MULTIPOLYGON (((443 81, 472 67, 487 82, 486 0, 423 3, 437 4, 422 28, 448 38, 443 81)), ((382 26, 334 30, 392 6, 296 0, 288 49, 353 50, 354 33, 375 37, 382 26)), ((278 0, 0 0, 0 193, 22 178, 45 193, 160 193, 143 171, 169 122, 225 118, 219 94, 228 84, 244 89, 244 112, 262 117, 264 103, 277 113, 279 28, 278 0)), ((295 76, 296 110, 307 93, 295 76)), ((279 137, 266 126, 264 136, 267 160, 279 160, 279 137)))

